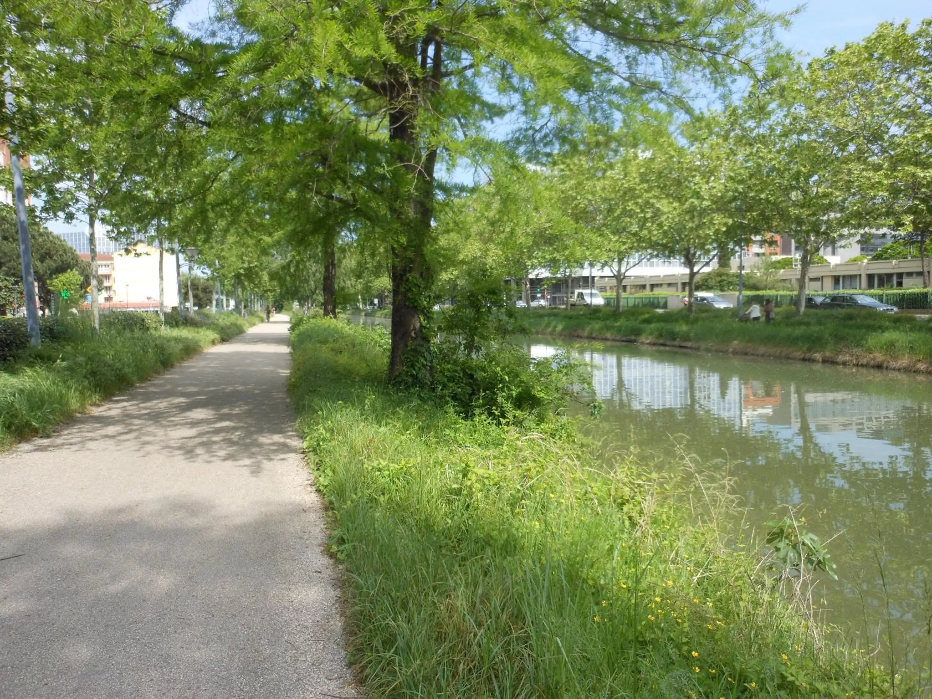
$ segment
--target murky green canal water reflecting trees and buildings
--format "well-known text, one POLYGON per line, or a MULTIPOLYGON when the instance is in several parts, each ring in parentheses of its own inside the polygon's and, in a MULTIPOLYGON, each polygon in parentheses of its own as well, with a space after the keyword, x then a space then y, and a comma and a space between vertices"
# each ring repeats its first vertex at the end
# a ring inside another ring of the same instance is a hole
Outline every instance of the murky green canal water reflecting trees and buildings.
MULTIPOLYGON (((591 364, 608 445, 727 471, 749 526, 787 514, 823 541, 829 622, 927 662, 932 626, 932 379, 623 343, 528 342, 591 364)), ((661 459, 663 461, 663 458, 661 459)), ((739 526, 735 522, 735 527, 739 526)), ((824 600, 824 601, 823 601, 824 600)), ((884 653, 885 654, 885 653, 884 653)))

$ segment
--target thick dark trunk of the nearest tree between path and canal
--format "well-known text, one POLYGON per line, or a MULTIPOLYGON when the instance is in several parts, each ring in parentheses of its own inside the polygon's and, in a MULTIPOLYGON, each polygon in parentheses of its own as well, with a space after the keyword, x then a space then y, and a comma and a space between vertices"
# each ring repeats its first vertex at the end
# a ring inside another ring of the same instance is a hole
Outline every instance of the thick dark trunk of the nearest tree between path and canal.
POLYGON ((432 312, 433 275, 427 259, 431 240, 434 198, 434 168, 437 151, 422 150, 418 138, 418 112, 427 97, 440 88, 443 78, 443 48, 439 40, 425 38, 403 48, 418 57, 427 73, 433 48, 431 74, 423 79, 399 72, 390 79, 389 141, 396 162, 407 172, 396 212, 399 231, 391 245, 391 356, 389 379, 421 382, 430 375, 430 337, 422 317, 432 312))

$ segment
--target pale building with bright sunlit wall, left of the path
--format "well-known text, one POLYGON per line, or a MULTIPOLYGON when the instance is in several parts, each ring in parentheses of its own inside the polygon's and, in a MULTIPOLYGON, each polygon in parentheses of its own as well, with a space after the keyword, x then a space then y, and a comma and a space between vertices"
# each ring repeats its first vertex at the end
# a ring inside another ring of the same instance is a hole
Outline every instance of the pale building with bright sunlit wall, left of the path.
MULTIPOLYGON (((85 260, 89 254, 81 254, 85 260)), ((165 308, 178 307, 178 275, 174 254, 164 256, 165 308)), ((97 255, 102 308, 158 310, 158 248, 137 243, 115 254, 97 255)))

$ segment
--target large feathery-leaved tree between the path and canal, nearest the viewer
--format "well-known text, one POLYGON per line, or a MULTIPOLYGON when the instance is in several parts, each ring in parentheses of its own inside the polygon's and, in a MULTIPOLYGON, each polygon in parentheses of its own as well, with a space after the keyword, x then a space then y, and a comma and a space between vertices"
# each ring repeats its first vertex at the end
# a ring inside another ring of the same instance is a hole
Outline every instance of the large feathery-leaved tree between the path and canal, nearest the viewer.
POLYGON ((410 373, 408 357, 423 354, 430 341, 430 251, 444 189, 438 162, 481 161, 484 126, 509 111, 535 126, 555 125, 528 130, 528 144, 540 147, 580 116, 612 118, 619 98, 681 106, 678 78, 701 73, 726 82, 754 61, 752 37, 777 21, 755 6, 697 2, 683 9, 647 0, 533 7, 368 0, 352 11, 334 11, 323 0, 234 0, 227 7, 240 37, 238 65, 252 72, 267 66, 271 89, 320 86, 317 93, 333 100, 332 120, 375 125, 365 135, 380 144, 389 174, 381 195, 390 212, 382 234, 391 258, 393 379, 410 373))

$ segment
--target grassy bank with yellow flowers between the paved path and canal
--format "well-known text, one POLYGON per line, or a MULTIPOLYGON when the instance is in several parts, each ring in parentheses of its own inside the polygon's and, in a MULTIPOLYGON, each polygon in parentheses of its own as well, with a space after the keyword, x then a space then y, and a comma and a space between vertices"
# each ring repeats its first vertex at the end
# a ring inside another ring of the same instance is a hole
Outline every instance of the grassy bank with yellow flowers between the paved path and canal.
POLYGON ((384 331, 308 320, 291 392, 372 696, 887 696, 774 591, 687 460, 574 422, 464 419, 383 381, 384 331))

